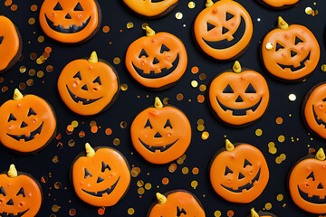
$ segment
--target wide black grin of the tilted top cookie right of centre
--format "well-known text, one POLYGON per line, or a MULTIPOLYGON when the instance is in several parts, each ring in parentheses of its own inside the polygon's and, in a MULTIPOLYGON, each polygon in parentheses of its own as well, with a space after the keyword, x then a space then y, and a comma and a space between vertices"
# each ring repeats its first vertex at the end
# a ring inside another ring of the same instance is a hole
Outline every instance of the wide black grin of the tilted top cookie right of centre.
POLYGON ((233 34, 233 37, 234 37, 233 40, 227 41, 227 39, 224 39, 221 41, 211 42, 211 41, 206 41, 203 38, 203 41, 206 42, 206 44, 209 47, 219 50, 219 49, 225 49, 225 48, 234 46, 236 43, 240 42, 240 40, 243 38, 244 35, 245 35, 245 19, 244 19, 244 17, 241 16, 241 22, 240 22, 239 27, 233 34))

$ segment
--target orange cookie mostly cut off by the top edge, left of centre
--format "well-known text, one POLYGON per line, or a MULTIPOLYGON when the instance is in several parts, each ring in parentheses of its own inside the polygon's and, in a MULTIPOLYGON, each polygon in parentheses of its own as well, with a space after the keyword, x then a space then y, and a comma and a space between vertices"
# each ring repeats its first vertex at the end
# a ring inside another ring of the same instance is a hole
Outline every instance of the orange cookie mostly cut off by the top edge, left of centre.
POLYGON ((171 12, 179 0, 123 0, 136 14, 145 18, 158 18, 171 12))

